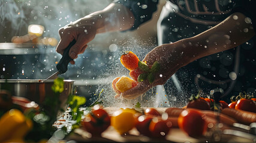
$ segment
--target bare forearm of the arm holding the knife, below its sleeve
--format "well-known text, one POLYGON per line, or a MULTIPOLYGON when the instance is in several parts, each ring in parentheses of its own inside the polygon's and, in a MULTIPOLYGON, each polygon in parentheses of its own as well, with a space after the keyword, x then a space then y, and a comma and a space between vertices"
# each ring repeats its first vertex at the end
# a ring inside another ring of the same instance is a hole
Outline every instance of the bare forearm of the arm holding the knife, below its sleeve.
POLYGON ((131 11, 121 4, 110 4, 104 10, 96 11, 80 19, 85 24, 91 24, 97 33, 122 31, 130 29, 134 23, 131 11))

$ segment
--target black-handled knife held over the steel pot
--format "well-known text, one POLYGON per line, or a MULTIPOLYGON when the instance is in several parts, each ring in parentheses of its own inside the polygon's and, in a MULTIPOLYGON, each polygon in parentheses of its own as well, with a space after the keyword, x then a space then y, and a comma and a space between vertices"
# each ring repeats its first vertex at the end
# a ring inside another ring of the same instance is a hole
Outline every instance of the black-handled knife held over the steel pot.
MULTIPOLYGON (((56 65, 58 71, 47 77, 46 80, 56 79, 56 77, 58 77, 58 74, 63 74, 68 70, 68 63, 73 60, 72 58, 70 58, 70 55, 68 55, 68 53, 70 52, 71 46, 73 46, 75 43, 76 40, 73 40, 70 45, 68 45, 68 47, 64 50, 61 60, 59 60, 58 64, 56 65)), ((46 80, 42 80, 41 82, 44 82, 46 80)))

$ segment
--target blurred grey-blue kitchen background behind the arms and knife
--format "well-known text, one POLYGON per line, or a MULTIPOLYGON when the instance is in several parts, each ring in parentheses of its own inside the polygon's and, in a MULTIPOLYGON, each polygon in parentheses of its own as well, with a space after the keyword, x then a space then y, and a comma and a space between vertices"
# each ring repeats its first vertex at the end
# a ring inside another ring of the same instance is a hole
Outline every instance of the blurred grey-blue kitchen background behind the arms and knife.
MULTIPOLYGON (((55 51, 58 30, 85 15, 103 10, 111 2, 0 1, 0 79, 45 79, 53 74, 61 58, 55 51), (39 27, 31 27, 34 24, 39 27), (38 38, 31 38, 31 30, 32 33, 41 30, 38 38), (25 43, 20 43, 20 38, 25 43)), ((164 4, 164 0, 160 1, 153 18, 137 30, 98 34, 88 44, 86 52, 76 59, 76 64, 69 64, 67 73, 61 76, 75 80, 77 94, 92 98, 92 101, 103 88, 107 89, 104 90, 106 94, 114 96, 109 89, 112 80, 129 75, 119 57, 122 52, 131 50, 143 60, 144 55, 157 45, 156 22, 164 4)))

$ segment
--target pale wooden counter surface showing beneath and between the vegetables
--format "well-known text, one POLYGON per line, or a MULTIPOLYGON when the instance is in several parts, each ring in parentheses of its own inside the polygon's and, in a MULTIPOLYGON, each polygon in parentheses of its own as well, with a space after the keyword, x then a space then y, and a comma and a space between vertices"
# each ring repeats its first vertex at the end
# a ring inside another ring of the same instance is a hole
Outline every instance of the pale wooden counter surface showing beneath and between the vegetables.
MULTIPOLYGON (((107 107, 104 108, 110 115, 112 115, 119 108, 107 107)), ((159 113, 163 113, 166 108, 156 108, 159 113)), ((75 129, 74 132, 66 138, 67 141, 76 142, 214 142, 213 139, 209 137, 192 138, 186 135, 185 132, 179 128, 172 128, 168 132, 165 139, 159 138, 149 138, 147 136, 142 136, 137 129, 132 129, 129 133, 125 135, 120 135, 116 130, 110 126, 107 130, 101 133, 101 136, 91 136, 90 133, 83 129, 75 129)), ((253 142, 251 139, 246 139, 234 135, 221 134, 220 142, 253 142)))

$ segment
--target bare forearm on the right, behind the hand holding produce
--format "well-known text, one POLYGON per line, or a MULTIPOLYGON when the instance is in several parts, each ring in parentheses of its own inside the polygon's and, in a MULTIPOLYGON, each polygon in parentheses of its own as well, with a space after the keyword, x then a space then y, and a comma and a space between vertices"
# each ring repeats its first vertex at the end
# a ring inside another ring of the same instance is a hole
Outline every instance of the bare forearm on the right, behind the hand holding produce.
POLYGON ((178 42, 184 43, 190 63, 198 58, 234 48, 254 35, 249 19, 241 13, 234 13, 212 29, 178 42))

